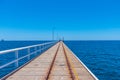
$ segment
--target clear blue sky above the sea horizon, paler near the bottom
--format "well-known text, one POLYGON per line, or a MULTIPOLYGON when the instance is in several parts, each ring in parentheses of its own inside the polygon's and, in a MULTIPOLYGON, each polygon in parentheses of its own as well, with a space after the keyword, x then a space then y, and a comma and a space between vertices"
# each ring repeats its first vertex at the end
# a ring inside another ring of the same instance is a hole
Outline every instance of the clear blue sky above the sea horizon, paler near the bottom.
POLYGON ((120 40, 120 0, 0 0, 0 38, 120 40))

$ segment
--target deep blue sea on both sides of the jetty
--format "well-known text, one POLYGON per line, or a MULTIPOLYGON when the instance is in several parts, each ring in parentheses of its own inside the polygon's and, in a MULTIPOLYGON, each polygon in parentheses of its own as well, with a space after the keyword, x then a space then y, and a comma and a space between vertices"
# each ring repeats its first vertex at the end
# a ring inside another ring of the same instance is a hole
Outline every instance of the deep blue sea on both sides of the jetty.
MULTIPOLYGON (((43 42, 46 41, 3 41, 0 42, 0 51, 43 42)), ((120 80, 120 41, 65 41, 65 44, 100 80, 120 80)), ((13 55, 11 53, 8 56, 13 55)), ((0 65, 3 63, 5 62, 0 65)), ((0 77, 13 69, 15 69, 14 64, 0 70, 2 72, 0 77)))

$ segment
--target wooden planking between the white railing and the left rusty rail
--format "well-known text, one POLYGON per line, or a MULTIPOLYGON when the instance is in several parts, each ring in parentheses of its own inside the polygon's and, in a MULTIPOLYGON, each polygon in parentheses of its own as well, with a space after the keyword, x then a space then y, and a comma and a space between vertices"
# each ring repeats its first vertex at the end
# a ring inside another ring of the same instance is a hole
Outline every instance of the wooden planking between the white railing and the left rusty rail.
POLYGON ((44 80, 59 43, 9 76, 6 80, 44 80))

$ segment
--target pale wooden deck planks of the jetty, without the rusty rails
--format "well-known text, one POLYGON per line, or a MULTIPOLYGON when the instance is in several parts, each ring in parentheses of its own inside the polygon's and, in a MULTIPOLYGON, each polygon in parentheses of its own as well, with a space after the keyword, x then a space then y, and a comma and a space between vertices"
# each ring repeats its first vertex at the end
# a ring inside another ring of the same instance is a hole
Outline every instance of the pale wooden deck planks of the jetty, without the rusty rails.
MULTIPOLYGON (((72 80, 66 63, 62 42, 54 45, 52 48, 31 61, 29 64, 15 72, 13 75, 9 76, 6 80, 45 80, 46 74, 49 70, 50 64, 59 44, 60 48, 58 50, 58 54, 56 56, 49 80, 72 80)), ((79 80, 95 80, 94 77, 73 55, 73 53, 66 47, 66 45, 64 45, 64 47, 72 68, 76 73, 75 76, 77 76, 79 80)))

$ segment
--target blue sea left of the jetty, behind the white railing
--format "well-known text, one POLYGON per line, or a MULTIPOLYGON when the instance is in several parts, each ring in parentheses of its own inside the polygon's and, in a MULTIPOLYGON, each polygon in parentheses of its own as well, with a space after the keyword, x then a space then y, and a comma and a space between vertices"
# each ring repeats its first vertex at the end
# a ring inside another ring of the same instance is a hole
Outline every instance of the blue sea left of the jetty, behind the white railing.
MULTIPOLYGON (((44 42, 48 42, 48 41, 0 41, 0 51, 19 48, 19 47, 25 47, 25 46, 30 46, 30 45, 41 44, 44 42)), ((34 51, 35 51, 35 48, 30 49, 31 53, 34 51)), ((44 51, 42 50, 41 52, 38 52, 36 54, 31 55, 30 60, 35 58, 36 56, 40 55, 44 51)), ((27 53, 28 52, 26 49, 20 50, 18 56, 22 57, 22 56, 27 55, 27 53)), ((4 65, 10 61, 13 61, 15 59, 16 59, 15 52, 9 52, 7 54, 0 54, 0 66, 4 65)), ((24 59, 19 60, 19 62, 18 62, 19 67, 28 61, 29 61, 28 58, 24 58, 24 59)), ((5 68, 0 69, 0 78, 2 78, 3 76, 7 75, 10 72, 12 72, 16 68, 17 68, 16 64, 13 63, 5 68)))

